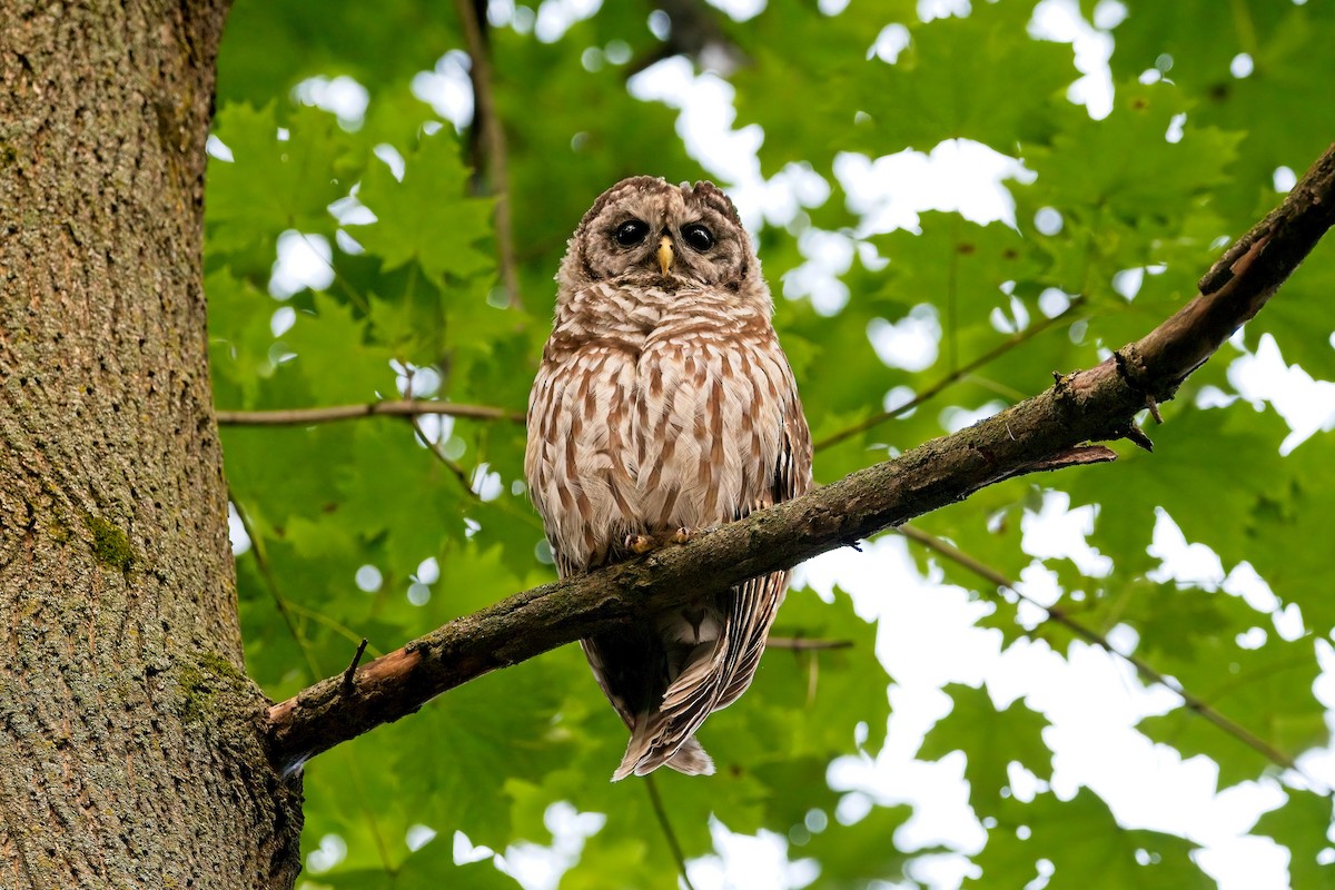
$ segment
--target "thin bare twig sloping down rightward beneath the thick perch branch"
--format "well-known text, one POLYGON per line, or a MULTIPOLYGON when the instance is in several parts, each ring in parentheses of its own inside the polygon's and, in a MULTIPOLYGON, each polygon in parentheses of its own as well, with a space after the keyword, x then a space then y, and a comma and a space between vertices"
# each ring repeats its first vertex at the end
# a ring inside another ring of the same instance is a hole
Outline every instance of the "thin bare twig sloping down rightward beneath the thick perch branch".
POLYGON ((1236 741, 1239 741, 1243 745, 1246 745, 1247 747, 1252 749, 1254 751, 1256 751, 1258 754, 1260 754, 1262 757, 1264 757, 1271 763, 1274 763, 1276 766, 1280 766, 1280 767, 1283 767, 1286 770, 1292 770, 1292 771, 1298 773, 1314 789, 1322 787, 1318 782, 1315 782, 1311 777, 1308 777, 1307 774, 1304 774, 1298 767, 1298 765, 1294 762, 1294 758, 1288 757, 1287 754, 1284 754, 1279 749, 1274 747, 1272 745, 1270 745, 1270 742, 1266 742, 1260 737, 1255 735, 1247 727, 1244 727, 1244 726, 1242 726, 1239 723, 1235 723, 1230 718, 1224 717, 1223 714, 1220 714, 1219 711, 1216 711, 1214 707, 1211 707, 1211 705, 1208 702, 1206 702, 1203 698, 1200 698, 1199 695, 1195 695, 1195 694, 1187 691, 1187 689, 1183 687, 1183 685, 1179 683, 1177 681, 1175 681, 1175 679, 1172 679, 1169 677, 1164 677, 1163 674, 1160 674, 1159 671, 1156 671, 1153 667, 1151 667, 1140 656, 1137 656, 1137 655, 1128 655, 1125 652, 1117 651, 1112 646, 1112 643, 1108 642, 1108 638, 1104 636, 1103 634, 1100 634, 1100 632, 1097 632, 1097 631, 1095 631, 1095 630, 1092 630, 1089 627, 1085 627, 1084 624, 1081 624, 1076 619, 1073 619, 1069 615, 1067 615, 1063 610, 1060 610, 1060 608, 1057 608, 1055 606, 1044 606, 1043 603, 1037 602, 1036 599, 1032 599, 1031 596, 1027 596, 1025 594, 1020 592, 1020 590, 1016 587, 1016 583, 1013 580, 1011 580, 1009 578, 1007 578, 1001 572, 996 571, 991 566, 987 566, 987 564, 979 562, 977 559, 975 559, 973 556, 969 556, 967 552, 964 552, 959 547, 948 544, 947 542, 941 540, 936 535, 932 535, 932 534, 928 534, 928 532, 921 531, 918 528, 914 528, 913 526, 904 524, 904 526, 900 526, 896 531, 898 531, 901 535, 904 535, 909 540, 913 540, 914 543, 918 543, 918 544, 926 547, 928 550, 930 550, 930 551, 933 551, 936 554, 940 554, 941 556, 945 556, 951 562, 953 562, 953 563, 956 563, 959 566, 963 566, 964 568, 969 570, 971 572, 973 572, 979 578, 983 578, 988 583, 991 583, 991 584, 993 584, 996 587, 1000 587, 1000 588, 1009 590, 1012 594, 1015 594, 1016 596, 1019 596, 1024 602, 1027 602, 1031 606, 1035 606, 1035 607, 1043 610, 1043 612, 1048 616, 1048 620, 1051 620, 1051 622, 1053 622, 1056 624, 1061 624, 1063 627, 1065 627, 1067 630, 1069 630, 1072 634, 1075 634, 1076 636, 1081 638, 1087 643, 1092 643, 1092 644, 1097 646, 1099 648, 1104 650, 1105 652, 1108 652, 1109 655, 1112 655, 1115 658, 1120 658, 1121 660, 1127 662, 1133 669, 1136 669, 1136 673, 1140 674, 1140 677, 1143 677, 1144 679, 1147 679, 1147 681, 1149 681, 1152 683, 1163 686, 1168 691, 1173 693, 1175 695, 1177 695, 1177 698, 1181 699, 1183 705, 1185 705, 1188 710, 1192 710, 1196 714, 1200 714, 1203 718, 1206 718, 1207 721, 1210 721, 1211 723, 1214 723, 1215 726, 1218 726, 1226 734, 1231 735, 1236 741))

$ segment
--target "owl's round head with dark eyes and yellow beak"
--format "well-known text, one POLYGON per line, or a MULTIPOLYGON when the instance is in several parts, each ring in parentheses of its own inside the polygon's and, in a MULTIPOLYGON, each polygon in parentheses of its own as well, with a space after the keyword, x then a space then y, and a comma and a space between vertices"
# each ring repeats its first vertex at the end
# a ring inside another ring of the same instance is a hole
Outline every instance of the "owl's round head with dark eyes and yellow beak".
POLYGON ((713 183, 669 185, 653 176, 623 179, 598 196, 557 280, 563 294, 607 282, 769 296, 732 200, 713 183))

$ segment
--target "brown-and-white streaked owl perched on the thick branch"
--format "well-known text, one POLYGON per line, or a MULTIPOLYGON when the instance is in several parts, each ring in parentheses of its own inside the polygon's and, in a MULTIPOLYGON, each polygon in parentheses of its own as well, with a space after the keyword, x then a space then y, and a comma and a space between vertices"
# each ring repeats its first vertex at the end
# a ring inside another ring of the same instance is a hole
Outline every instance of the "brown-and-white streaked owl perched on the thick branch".
MULTIPOLYGON (((557 275, 525 474, 562 578, 810 487, 812 443, 733 203, 637 176, 603 192, 557 275)), ((696 731, 750 686, 788 572, 582 640, 630 730, 613 779, 712 774, 696 731)))

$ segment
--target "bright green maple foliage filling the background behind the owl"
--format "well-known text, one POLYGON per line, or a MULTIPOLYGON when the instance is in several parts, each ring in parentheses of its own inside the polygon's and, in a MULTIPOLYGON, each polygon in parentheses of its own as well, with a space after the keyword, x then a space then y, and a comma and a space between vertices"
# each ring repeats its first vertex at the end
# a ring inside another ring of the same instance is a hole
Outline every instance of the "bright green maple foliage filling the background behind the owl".
MULTIPOLYGON (((889 407, 922 399, 821 448, 824 482, 890 447, 943 435, 960 411, 1035 394, 1053 371, 1089 367, 1148 331, 1195 292, 1219 239, 1279 200, 1275 168, 1300 173, 1330 141, 1328 116, 1315 112, 1328 107, 1335 83, 1331 4, 1127 0, 1111 32, 1115 96, 1100 120, 1065 97, 1080 76, 1072 48, 1031 36, 1035 3, 976 0, 965 17, 925 23, 917 5, 853 3, 829 16, 813 3, 770 0, 746 21, 701 7, 744 59, 729 81, 737 127, 764 129, 761 169, 800 164, 832 187, 822 205, 754 232, 776 295, 806 262, 798 243, 817 227, 888 260, 854 256, 841 275, 850 299, 833 315, 777 300, 817 440, 880 415, 892 390, 889 407), (894 61, 870 52, 885 35, 908 39, 894 61), (1255 71, 1235 77, 1230 64, 1244 52, 1255 71), (1167 139, 1171 129, 1180 137, 1167 139), (862 196, 834 176, 836 157, 930 152, 949 139, 988 145, 1035 173, 1004 183, 1016 224, 924 208, 920 231, 868 228, 854 209, 862 196), (1040 226, 1040 211, 1055 211, 1060 227, 1040 226), (1119 274, 1147 267, 1152 274, 1128 298, 1119 274), (1053 303, 1055 291, 1069 306, 1053 303), (941 331, 926 367, 882 362, 869 338, 910 314, 941 331)), ((1081 7, 1092 15, 1092 1, 1081 7)), ((526 15, 521 7, 515 21, 526 15)), ((474 167, 485 153, 414 95, 418 72, 463 49, 454 9, 419 0, 238 0, 215 120, 227 152, 215 152, 206 200, 219 408, 411 394, 522 412, 547 332, 551 276, 593 197, 625 175, 705 175, 674 129, 676 112, 626 87, 633 69, 665 49, 641 4, 605 3, 554 40, 515 24, 487 36, 509 145, 519 306, 503 306, 498 290, 506 234, 478 187, 487 177, 474 167), (303 79, 339 75, 368 93, 359 123, 295 99, 303 79), (316 266, 327 264, 330 283, 275 299, 279 244, 302 242, 327 258, 316 266)), ((1323 246, 1243 342, 1254 347, 1268 334, 1286 360, 1335 376, 1332 287, 1335 255, 1323 246)), ((1328 735, 1312 685, 1316 652, 1335 627, 1328 547, 1319 543, 1335 524, 1335 438, 1318 432, 1283 456, 1288 430, 1275 411, 1199 407, 1207 384, 1234 391, 1232 355, 1226 347, 1164 406, 1167 423, 1149 428, 1153 455, 1119 444, 1112 467, 1011 480, 914 524, 1004 578, 1051 570, 1071 620, 1097 635, 1135 631, 1136 656, 1294 758, 1328 735), (1089 543, 1111 559, 1108 574, 1087 576, 1073 560, 1024 551, 1021 524, 1049 490, 1097 508, 1089 543), (1155 575, 1159 559, 1147 547, 1164 514, 1226 571, 1254 568, 1280 606, 1300 612, 1302 628, 1280 634, 1270 614, 1214 584, 1155 575)), ((231 498, 251 542, 238 556, 247 670, 271 697, 340 671, 362 636, 371 655, 388 651, 551 576, 538 558, 541 526, 515 484, 522 426, 465 418, 418 426, 364 418, 223 430, 231 498)), ((113 535, 89 528, 111 542, 104 562, 128 568, 113 535)), ((969 563, 912 552, 989 598, 995 610, 983 623, 1000 628, 1007 646, 1043 639, 1060 654, 1080 635, 1021 622, 1013 599, 996 595, 995 578, 980 579, 969 563)), ((828 782, 834 758, 872 758, 885 743, 889 678, 874 658, 874 626, 844 594, 826 603, 793 591, 776 635, 853 646, 770 651, 749 694, 702 731, 718 774, 655 775, 684 854, 713 851, 714 819, 788 838, 790 859, 817 865, 814 887, 918 881, 914 862, 939 849, 898 843, 913 809, 873 806, 845 825, 828 782)), ((1047 718, 1020 702, 999 710, 981 689, 955 685, 949 694, 953 710, 917 757, 964 753, 971 806, 988 827, 973 857, 981 885, 1024 886, 1040 861, 1051 887, 1211 885, 1188 841, 1119 825, 1088 789, 1071 799, 1048 790, 1017 799, 1015 765, 1040 785, 1052 778, 1047 718)), ((1183 757, 1211 758, 1220 786, 1278 774, 1272 758, 1187 707, 1139 729, 1183 757)), ((455 833, 498 853, 550 845, 545 817, 561 801, 606 814, 563 890, 672 885, 677 865, 646 785, 607 782, 623 739, 574 647, 451 691, 307 766, 306 853, 331 837, 346 845, 342 859, 311 859, 322 869, 308 886, 517 886, 486 859, 457 865, 455 833), (410 847, 414 826, 435 838, 422 846, 418 831, 410 847)), ((1294 886, 1320 886, 1330 881, 1319 859, 1330 799, 1287 794, 1255 831, 1291 850, 1294 886)))

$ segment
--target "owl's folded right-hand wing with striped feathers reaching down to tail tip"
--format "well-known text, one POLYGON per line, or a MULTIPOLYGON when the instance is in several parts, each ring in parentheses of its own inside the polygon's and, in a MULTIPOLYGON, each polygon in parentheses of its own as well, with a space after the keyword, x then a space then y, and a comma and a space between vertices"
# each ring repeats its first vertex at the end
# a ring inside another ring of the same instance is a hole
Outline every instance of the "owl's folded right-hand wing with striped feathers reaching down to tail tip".
MULTIPOLYGON (((760 350, 765 352, 765 362, 753 367, 774 368, 780 379, 772 380, 773 390, 756 387, 756 391, 774 392, 781 430, 770 436, 777 447, 762 455, 768 458, 762 462, 765 480, 752 503, 738 506, 737 518, 805 494, 812 483, 812 439, 792 370, 773 335, 760 344, 760 350)), ((776 416, 764 410, 756 414, 776 416)), ((614 779, 631 773, 645 775, 663 763, 678 766, 682 754, 688 759, 697 753, 704 755, 692 737, 706 717, 732 705, 750 686, 786 588, 788 572, 780 571, 752 578, 720 596, 717 611, 722 615, 722 631, 713 650, 689 663, 669 685, 657 711, 637 715, 634 723, 627 721, 630 746, 614 779)))

